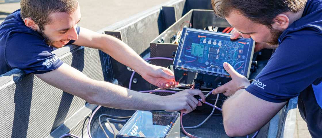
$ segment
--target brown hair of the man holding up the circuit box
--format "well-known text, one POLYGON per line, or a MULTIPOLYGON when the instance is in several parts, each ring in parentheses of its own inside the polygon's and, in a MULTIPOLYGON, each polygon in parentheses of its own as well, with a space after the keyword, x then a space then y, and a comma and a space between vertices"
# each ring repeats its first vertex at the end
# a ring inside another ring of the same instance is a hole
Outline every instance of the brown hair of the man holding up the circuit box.
POLYGON ((307 0, 211 0, 213 11, 219 17, 228 17, 233 10, 254 23, 271 28, 273 19, 283 12, 298 12, 307 0))

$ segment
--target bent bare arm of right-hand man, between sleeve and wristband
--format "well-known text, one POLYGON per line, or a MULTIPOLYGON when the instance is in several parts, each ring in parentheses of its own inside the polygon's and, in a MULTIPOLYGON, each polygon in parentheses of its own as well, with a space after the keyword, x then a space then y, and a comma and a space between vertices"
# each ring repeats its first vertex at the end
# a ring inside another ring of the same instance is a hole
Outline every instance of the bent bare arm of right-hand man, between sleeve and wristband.
POLYGON ((286 104, 262 100, 242 89, 223 103, 223 123, 229 136, 245 136, 265 125, 286 104))

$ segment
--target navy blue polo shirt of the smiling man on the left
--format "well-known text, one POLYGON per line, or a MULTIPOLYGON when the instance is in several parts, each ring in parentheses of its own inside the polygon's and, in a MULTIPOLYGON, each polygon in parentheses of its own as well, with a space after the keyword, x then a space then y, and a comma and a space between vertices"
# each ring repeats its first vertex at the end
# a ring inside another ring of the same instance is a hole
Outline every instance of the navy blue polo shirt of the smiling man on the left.
MULTIPOLYGON (((77 33, 80 27, 76 28, 77 33)), ((71 40, 68 44, 73 43, 71 40)), ((0 25, 0 75, 11 69, 42 74, 59 68, 63 61, 52 54, 53 47, 36 31, 25 26, 20 9, 0 25)))

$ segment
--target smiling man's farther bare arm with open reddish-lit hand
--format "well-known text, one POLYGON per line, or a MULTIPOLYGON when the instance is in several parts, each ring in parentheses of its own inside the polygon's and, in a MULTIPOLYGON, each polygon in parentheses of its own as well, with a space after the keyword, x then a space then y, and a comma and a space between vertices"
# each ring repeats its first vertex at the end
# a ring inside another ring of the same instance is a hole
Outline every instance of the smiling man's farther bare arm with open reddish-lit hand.
POLYGON ((175 85, 174 73, 166 68, 148 64, 133 49, 117 38, 81 28, 73 44, 99 49, 118 62, 134 69, 144 79, 162 89, 175 85))

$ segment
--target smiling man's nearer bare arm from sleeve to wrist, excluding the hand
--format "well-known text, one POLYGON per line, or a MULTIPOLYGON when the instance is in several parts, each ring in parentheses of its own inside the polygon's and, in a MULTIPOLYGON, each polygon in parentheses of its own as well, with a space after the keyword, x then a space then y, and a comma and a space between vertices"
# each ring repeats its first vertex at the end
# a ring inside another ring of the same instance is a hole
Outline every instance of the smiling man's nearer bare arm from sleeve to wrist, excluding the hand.
POLYGON ((93 80, 65 63, 56 70, 36 76, 91 104, 119 109, 166 110, 162 96, 139 93, 109 82, 93 80))

